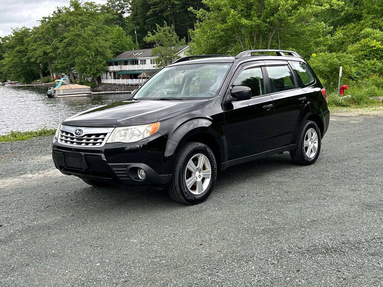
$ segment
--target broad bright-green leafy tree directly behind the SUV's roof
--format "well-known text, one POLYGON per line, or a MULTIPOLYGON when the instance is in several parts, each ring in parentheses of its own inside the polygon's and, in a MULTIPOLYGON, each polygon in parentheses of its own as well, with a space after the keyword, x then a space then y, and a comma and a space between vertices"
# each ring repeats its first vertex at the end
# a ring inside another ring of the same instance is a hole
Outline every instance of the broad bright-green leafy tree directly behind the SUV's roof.
MULTIPOLYGON (((308 27, 321 39, 325 25, 316 20, 315 15, 328 9, 330 4, 341 5, 335 0, 250 0, 246 3, 204 0, 203 3, 209 10, 190 9, 201 20, 191 33, 189 52, 192 54, 235 54, 247 49, 294 46, 306 40, 302 36, 311 35, 308 32, 302 35, 308 27)), ((304 52, 305 47, 300 46, 303 50, 298 52, 304 52)))

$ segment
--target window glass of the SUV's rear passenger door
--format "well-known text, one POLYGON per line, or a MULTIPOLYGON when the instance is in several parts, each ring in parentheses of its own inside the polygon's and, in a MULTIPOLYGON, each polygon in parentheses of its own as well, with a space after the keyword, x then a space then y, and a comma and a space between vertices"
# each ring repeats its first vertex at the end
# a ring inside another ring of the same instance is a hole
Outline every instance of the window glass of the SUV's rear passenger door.
POLYGON ((271 93, 291 90, 294 87, 293 74, 287 65, 266 67, 271 93))

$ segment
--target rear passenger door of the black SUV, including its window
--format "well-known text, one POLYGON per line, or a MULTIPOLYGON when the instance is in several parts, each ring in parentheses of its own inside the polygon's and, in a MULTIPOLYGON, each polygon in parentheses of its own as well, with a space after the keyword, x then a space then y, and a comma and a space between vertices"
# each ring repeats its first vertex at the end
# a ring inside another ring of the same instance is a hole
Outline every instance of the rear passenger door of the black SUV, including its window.
POLYGON ((273 148, 290 145, 306 101, 306 93, 300 88, 287 61, 265 62, 268 92, 274 102, 273 148))

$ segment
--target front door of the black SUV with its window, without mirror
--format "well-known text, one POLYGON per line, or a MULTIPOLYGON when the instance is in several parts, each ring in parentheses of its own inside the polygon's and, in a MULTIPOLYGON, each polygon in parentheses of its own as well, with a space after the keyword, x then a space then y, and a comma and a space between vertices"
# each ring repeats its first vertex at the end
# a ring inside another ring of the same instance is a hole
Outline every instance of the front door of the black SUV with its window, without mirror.
POLYGON ((248 86, 252 98, 224 104, 229 160, 272 149, 274 134, 273 99, 265 93, 261 66, 240 67, 230 90, 233 86, 248 86))

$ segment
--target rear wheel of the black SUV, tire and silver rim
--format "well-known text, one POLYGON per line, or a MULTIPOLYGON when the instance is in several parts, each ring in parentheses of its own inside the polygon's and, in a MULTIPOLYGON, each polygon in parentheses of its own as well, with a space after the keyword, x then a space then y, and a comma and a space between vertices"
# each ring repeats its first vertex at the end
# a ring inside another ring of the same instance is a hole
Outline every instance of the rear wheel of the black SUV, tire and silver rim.
POLYGON ((312 165, 321 152, 321 132, 313 121, 305 121, 298 134, 296 150, 290 152, 291 159, 298 165, 312 165), (307 140, 311 132, 311 140, 307 140), (314 132, 317 137, 314 137, 314 132), (305 142, 306 139, 306 142, 305 142), (306 146, 305 146, 306 145, 306 146), (314 149, 316 148, 315 152, 314 149))

